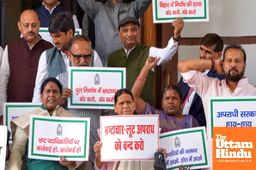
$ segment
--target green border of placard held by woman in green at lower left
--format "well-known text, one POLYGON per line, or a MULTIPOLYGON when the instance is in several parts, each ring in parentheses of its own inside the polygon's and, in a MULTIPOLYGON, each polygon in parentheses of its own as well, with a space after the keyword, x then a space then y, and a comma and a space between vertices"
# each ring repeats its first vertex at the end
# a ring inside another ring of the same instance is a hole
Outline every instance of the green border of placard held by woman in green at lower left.
POLYGON ((44 156, 51 158, 58 158, 60 155, 47 155, 34 153, 34 131, 35 131, 35 121, 46 121, 46 122, 72 122, 72 123, 84 123, 85 124, 85 135, 84 135, 84 155, 83 156, 65 156, 66 158, 86 158, 86 147, 87 147, 87 120, 55 120, 55 119, 44 119, 44 118, 33 118, 32 119, 32 143, 31 143, 31 155, 32 156, 44 156))

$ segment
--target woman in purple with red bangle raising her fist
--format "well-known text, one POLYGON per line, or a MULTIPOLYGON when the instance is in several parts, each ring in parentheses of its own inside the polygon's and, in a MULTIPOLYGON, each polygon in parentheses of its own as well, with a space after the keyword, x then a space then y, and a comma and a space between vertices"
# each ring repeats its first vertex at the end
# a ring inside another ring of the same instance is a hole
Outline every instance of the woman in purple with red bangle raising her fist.
POLYGON ((162 110, 157 110, 149 103, 140 98, 140 94, 146 82, 146 77, 152 68, 155 67, 159 58, 148 57, 144 67, 132 87, 132 94, 136 103, 136 112, 141 114, 159 114, 160 127, 162 132, 198 127, 198 122, 191 115, 182 115, 181 91, 176 85, 169 85, 162 93, 162 110))

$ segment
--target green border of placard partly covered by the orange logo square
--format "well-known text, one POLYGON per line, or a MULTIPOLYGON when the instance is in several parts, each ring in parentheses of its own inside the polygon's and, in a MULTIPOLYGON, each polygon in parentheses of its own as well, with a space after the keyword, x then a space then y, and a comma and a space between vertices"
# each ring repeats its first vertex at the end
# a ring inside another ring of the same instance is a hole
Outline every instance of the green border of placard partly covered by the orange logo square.
MULTIPOLYGON (((211 99, 210 108, 211 108, 211 133, 213 131, 213 102, 255 102, 256 99, 211 99)), ((212 138, 212 134, 211 134, 212 138)))

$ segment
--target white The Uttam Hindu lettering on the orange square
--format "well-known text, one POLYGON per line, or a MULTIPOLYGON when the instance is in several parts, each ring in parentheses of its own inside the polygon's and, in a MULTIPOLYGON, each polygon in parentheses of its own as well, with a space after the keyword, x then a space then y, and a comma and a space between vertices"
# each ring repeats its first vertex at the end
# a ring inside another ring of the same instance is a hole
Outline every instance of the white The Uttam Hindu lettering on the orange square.
POLYGON ((233 140, 229 140, 225 135, 216 134, 215 136, 215 158, 252 158, 252 152, 250 150, 253 149, 253 142, 234 142, 233 140))

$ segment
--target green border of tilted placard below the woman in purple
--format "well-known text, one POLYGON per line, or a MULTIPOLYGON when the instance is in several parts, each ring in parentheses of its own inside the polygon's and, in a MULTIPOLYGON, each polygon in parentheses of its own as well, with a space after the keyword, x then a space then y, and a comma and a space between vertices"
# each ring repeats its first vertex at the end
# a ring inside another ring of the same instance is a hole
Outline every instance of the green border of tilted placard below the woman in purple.
MULTIPOLYGON (((203 145, 204 145, 204 158, 205 158, 205 163, 204 164, 192 164, 192 167, 198 167, 198 166, 203 166, 203 165, 207 165, 208 164, 207 153, 206 153, 206 146, 205 146, 205 136, 204 136, 204 130, 203 129, 200 129, 200 130, 189 130, 189 131, 186 131, 186 132, 172 133, 172 134, 169 134, 169 135, 160 136, 160 139, 166 138, 166 137, 169 137, 169 136, 181 135, 181 134, 186 134, 186 133, 197 133, 197 132, 201 132, 201 134, 202 134, 203 145)), ((188 167, 188 166, 189 165, 184 165, 184 167, 188 167)), ((166 170, 173 170, 173 169, 176 169, 176 168, 179 168, 179 167, 177 167, 177 166, 176 167, 171 167, 171 168, 168 168, 166 170)))

